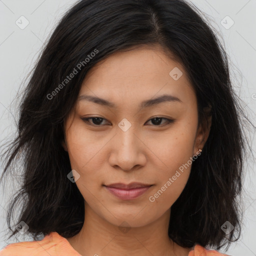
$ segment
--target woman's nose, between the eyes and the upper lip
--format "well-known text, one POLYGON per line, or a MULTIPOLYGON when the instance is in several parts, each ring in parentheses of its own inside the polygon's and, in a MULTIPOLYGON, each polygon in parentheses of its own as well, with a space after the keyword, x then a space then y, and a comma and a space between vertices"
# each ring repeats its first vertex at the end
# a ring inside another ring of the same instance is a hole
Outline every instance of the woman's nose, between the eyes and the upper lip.
POLYGON ((132 125, 126 131, 117 129, 116 135, 111 140, 110 150, 108 162, 116 169, 129 171, 146 163, 146 145, 132 125))

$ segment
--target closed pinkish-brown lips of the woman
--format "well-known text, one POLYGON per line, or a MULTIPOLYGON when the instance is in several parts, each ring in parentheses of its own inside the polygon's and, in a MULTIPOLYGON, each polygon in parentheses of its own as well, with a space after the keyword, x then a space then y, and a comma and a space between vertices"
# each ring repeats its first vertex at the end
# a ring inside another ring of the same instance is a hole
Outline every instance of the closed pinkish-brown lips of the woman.
POLYGON ((122 200, 132 200, 145 193, 152 185, 139 182, 103 185, 109 192, 122 200))

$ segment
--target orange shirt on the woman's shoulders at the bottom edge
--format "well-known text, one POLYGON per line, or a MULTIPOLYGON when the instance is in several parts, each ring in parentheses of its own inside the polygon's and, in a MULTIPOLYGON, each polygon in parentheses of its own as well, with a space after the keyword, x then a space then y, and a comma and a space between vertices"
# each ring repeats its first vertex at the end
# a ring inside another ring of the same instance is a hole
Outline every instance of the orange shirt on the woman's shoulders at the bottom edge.
MULTIPOLYGON (((0 256, 81 256, 67 241, 57 232, 45 235, 40 241, 16 242, 6 245, 0 250, 0 256)), ((97 255, 95 253, 95 255, 97 255)), ((207 250, 196 244, 188 256, 224 256, 215 250, 207 250)))

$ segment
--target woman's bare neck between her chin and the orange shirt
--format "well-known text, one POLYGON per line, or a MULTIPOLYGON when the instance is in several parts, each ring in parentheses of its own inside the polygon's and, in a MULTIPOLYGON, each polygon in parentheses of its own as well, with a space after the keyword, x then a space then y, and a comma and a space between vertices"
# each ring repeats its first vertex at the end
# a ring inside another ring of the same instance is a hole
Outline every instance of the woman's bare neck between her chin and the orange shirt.
POLYGON ((164 256, 188 255, 168 237, 170 209, 159 219, 144 226, 116 226, 97 215, 89 205, 85 207, 84 224, 75 236, 67 240, 81 255, 164 256))

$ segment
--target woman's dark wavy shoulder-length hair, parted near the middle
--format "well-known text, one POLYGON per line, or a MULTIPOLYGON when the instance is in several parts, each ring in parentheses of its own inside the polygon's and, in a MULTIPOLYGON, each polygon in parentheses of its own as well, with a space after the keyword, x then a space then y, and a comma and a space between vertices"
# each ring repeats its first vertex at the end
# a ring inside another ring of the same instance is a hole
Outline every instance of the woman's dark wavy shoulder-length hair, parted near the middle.
POLYGON ((171 206, 168 235, 183 247, 198 243, 217 249, 239 238, 242 214, 236 199, 247 118, 231 86, 223 46, 183 0, 80 0, 64 14, 32 70, 19 105, 18 135, 3 154, 3 174, 12 163, 23 171, 22 186, 8 207, 10 230, 15 205, 23 198, 15 223, 24 221, 34 239, 51 231, 66 238, 79 232, 84 200, 67 178, 71 166, 61 146, 63 122, 92 66, 118 50, 156 44, 184 66, 197 98, 198 124, 205 120, 203 107, 211 106, 212 115, 203 151, 171 206), (226 221, 234 226, 228 235, 221 229, 226 221))

